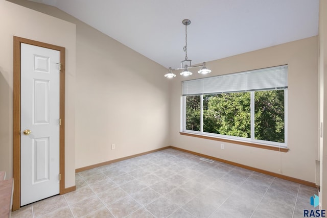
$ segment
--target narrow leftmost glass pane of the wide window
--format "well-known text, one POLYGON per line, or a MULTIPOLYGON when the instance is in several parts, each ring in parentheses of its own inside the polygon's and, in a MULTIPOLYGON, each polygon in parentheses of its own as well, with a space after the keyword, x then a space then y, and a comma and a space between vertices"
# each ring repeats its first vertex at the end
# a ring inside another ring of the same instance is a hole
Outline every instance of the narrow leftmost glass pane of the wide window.
POLYGON ((200 95, 186 96, 186 130, 200 131, 200 95))

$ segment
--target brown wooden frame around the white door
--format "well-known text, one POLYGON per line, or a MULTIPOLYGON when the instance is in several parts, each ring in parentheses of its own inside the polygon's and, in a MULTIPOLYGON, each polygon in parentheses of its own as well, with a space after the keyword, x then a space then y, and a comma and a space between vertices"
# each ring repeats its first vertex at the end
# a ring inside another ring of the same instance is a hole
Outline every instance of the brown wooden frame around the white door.
POLYGON ((57 45, 14 36, 14 86, 13 86, 13 211, 20 208, 20 51, 21 43, 45 47, 60 52, 60 138, 59 138, 59 194, 65 192, 65 48, 57 45))

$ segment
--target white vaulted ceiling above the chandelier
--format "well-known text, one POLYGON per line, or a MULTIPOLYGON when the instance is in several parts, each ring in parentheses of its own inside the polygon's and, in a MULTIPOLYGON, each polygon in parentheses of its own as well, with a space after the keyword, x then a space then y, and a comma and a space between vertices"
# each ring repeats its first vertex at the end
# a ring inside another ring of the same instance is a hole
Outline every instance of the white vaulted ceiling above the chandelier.
MULTIPOLYGON (((318 35, 319 0, 31 0, 55 6, 165 67, 318 35)), ((126 57, 128 59, 128 57, 126 57)))

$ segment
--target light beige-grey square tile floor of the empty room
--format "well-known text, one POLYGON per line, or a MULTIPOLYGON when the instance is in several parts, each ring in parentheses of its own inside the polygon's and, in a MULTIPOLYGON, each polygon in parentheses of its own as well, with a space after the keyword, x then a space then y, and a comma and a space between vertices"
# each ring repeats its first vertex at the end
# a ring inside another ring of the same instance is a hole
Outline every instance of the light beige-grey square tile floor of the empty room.
POLYGON ((12 217, 303 217, 317 189, 166 149, 76 174, 12 217))

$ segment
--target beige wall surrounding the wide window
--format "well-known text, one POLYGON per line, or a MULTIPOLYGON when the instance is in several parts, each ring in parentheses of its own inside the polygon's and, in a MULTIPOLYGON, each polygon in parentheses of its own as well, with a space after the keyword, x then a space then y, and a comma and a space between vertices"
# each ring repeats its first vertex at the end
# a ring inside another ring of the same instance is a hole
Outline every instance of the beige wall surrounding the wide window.
MULTIPOLYGON (((180 131, 181 81, 171 84, 171 143, 173 146, 245 164, 298 179, 315 182, 318 117, 318 37, 281 44, 212 62, 209 76, 288 64, 288 148, 277 152, 182 136, 180 131)), ((193 75, 192 79, 201 75, 193 75)), ((191 79, 191 78, 190 78, 191 79)))

